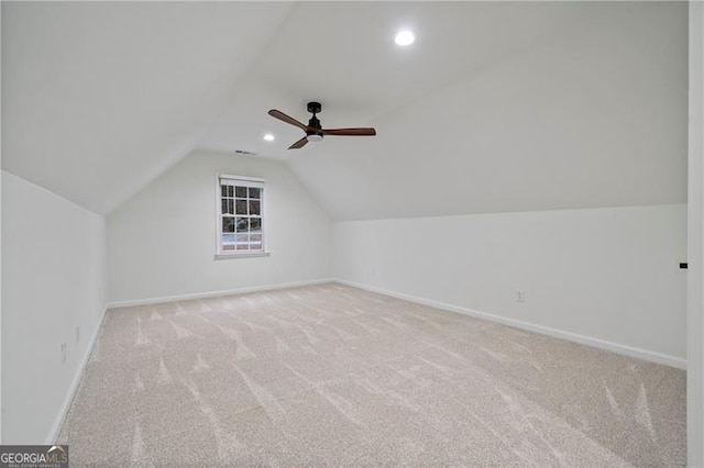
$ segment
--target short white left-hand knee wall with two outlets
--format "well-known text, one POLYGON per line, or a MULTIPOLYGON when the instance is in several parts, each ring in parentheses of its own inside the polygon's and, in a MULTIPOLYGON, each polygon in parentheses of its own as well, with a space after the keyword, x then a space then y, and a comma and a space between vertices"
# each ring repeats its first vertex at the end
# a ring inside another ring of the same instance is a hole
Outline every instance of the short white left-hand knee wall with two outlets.
POLYGON ((2 442, 50 443, 105 312, 106 221, 3 171, 2 250, 2 442))

